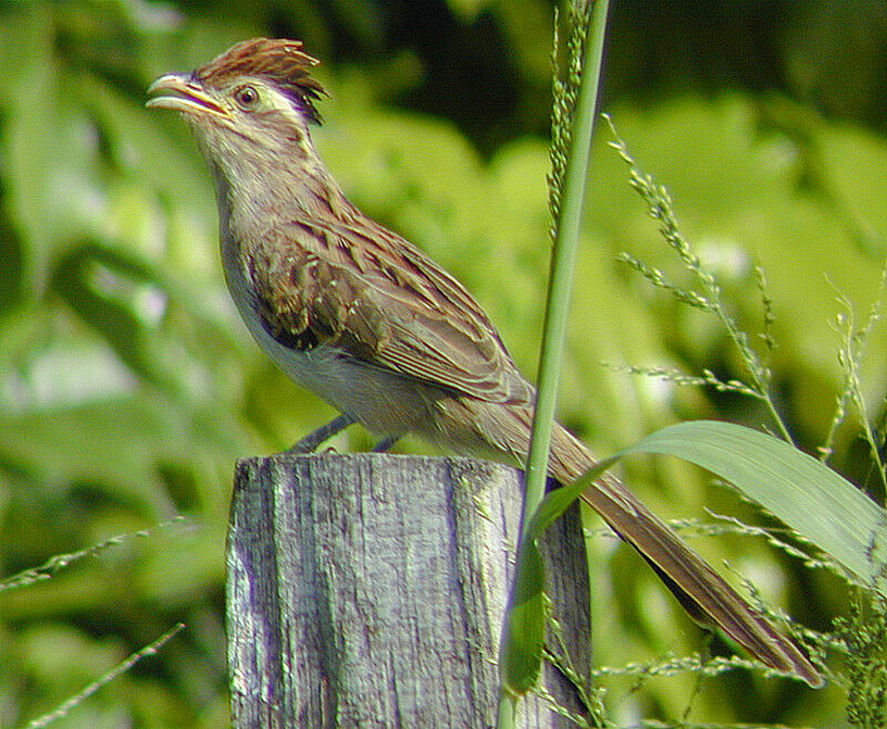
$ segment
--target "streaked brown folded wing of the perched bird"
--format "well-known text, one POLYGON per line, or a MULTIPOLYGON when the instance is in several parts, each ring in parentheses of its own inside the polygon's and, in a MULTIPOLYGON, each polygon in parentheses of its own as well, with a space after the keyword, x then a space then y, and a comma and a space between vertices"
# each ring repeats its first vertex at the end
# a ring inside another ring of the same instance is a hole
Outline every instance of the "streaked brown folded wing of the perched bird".
POLYGON ((361 224, 373 227, 297 220, 287 245, 261 248, 252 275, 271 335, 481 400, 531 401, 473 297, 402 238, 361 224))

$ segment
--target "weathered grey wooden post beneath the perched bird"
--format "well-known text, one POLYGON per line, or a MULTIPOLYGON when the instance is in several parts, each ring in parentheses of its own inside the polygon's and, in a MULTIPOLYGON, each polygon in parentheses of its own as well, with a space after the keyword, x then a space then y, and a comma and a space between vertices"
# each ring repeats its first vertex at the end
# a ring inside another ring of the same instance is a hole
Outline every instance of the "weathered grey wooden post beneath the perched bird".
MULTIPOLYGON (((227 546, 235 727, 490 727, 521 474, 461 458, 238 463, 227 546)), ((570 660, 589 665, 575 511, 541 545, 570 660)), ((571 711, 558 669, 543 686, 571 711)), ((539 697, 524 727, 573 726, 539 697)))

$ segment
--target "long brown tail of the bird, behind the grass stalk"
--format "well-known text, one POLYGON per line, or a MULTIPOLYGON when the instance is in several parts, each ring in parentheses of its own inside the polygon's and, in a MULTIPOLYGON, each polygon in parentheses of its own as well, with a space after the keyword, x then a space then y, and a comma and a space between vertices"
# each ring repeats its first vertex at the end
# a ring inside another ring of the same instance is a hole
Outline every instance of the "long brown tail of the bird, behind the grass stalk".
MULTIPOLYGON (((592 463, 591 453, 557 427, 552 433, 550 475, 569 483, 592 463)), ((823 685, 823 678, 795 644, 777 633, 619 479, 604 474, 584 491, 582 500, 640 552, 696 622, 721 628, 766 666, 793 671, 812 687, 823 685)))

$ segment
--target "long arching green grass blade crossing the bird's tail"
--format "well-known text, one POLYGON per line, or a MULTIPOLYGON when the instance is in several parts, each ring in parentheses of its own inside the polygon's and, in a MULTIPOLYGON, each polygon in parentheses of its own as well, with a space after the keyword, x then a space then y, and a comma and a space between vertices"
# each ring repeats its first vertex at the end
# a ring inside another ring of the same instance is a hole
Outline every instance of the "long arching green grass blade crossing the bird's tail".
POLYGON ((550 492, 518 553, 510 620, 501 651, 503 682, 518 694, 536 685, 544 639, 544 569, 536 541, 585 487, 632 453, 675 455, 730 481, 838 564, 884 594, 887 512, 827 465, 766 433, 714 421, 670 425, 601 461, 550 492))

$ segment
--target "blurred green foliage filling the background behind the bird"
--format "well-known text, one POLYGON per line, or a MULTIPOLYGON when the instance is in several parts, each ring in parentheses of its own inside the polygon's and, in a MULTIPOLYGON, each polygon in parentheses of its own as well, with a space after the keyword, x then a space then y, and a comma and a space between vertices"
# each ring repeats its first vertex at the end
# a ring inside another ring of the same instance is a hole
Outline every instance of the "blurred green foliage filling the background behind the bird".
MULTIPOLYGON (((880 3, 615 2, 604 93, 641 166, 759 331, 774 300, 779 405, 814 449, 843 374, 832 322, 861 319, 885 255, 887 11, 880 3), (726 40, 725 40, 726 39, 726 40), (814 111, 816 104, 819 111, 814 111), (826 112, 822 114, 819 112, 826 112), (868 126, 867 126, 868 124, 868 126)), ((0 572, 10 575, 175 514, 159 528, 0 594, 0 726, 52 709, 173 624, 156 657, 61 726, 217 727, 227 712, 224 540, 234 460, 279 450, 330 415, 264 360, 227 299, 215 206, 187 130, 144 89, 254 34, 302 38, 330 91, 315 138, 346 192, 456 274, 532 374, 547 267, 551 3, 293 0, 0 6, 0 572)), ((751 403, 615 366, 742 376, 717 322, 651 290, 628 249, 675 280, 602 127, 577 274, 562 417, 601 453, 675 419, 759 425, 751 403)), ((884 328, 864 374, 884 398, 884 328)), ((835 464, 863 481, 857 431, 835 464)), ((368 443, 351 433, 341 448, 368 443)), ((425 448, 415 443, 407 448, 425 448)), ((672 462, 630 466, 669 515, 703 502, 753 518, 672 462)), ((819 629, 843 585, 748 538, 696 540, 819 629)), ((699 633, 638 559, 594 542, 597 661, 699 649, 699 633), (604 568, 606 567, 606 568, 604 568), (611 576, 630 574, 631 579, 611 576)), ((722 646, 715 645, 715 650, 722 646)), ((835 688, 744 674, 614 681, 615 720, 843 726, 835 688)))

